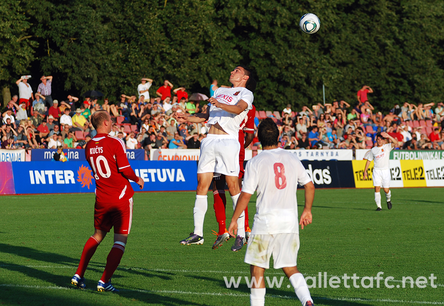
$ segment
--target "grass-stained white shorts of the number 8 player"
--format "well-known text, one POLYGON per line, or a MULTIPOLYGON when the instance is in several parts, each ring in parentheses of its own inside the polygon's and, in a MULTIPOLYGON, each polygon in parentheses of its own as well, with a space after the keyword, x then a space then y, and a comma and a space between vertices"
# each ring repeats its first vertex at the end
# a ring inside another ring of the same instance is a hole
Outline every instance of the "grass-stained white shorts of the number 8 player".
POLYGON ((244 262, 268 269, 273 254, 273 268, 296 267, 299 234, 251 235, 244 262))

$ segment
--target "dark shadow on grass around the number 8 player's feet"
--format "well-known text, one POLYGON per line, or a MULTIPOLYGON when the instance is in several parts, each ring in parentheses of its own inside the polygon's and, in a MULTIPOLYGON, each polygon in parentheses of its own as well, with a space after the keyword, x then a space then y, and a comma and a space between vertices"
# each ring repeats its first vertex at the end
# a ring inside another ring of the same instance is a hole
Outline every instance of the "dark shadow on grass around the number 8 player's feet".
MULTIPOLYGON (((215 285, 220 286, 223 289, 229 290, 229 293, 250 294, 250 292, 251 292, 250 288, 247 286, 247 284, 245 282, 245 276, 242 276, 241 282, 239 283, 239 286, 237 288, 235 288, 233 285, 231 285, 231 288, 227 288, 225 280, 223 278, 216 279, 216 278, 206 277, 206 276, 201 276, 201 275, 186 275, 186 277, 190 277, 192 279, 202 279, 202 280, 206 280, 206 281, 211 281, 215 285)), ((287 278, 284 278, 284 280, 285 279, 287 279, 287 278)), ((289 280, 287 279, 287 284, 288 283, 289 283, 289 280)), ((287 284, 285 284, 285 285, 282 284, 282 286, 286 286, 287 284)), ((267 285, 265 284, 265 286, 267 286, 267 285)), ((293 288, 293 287, 291 287, 291 288, 293 288)), ((296 297, 296 293, 293 290, 289 292, 288 290, 284 290, 284 289, 280 289, 280 288, 268 288, 267 287, 266 288, 266 295, 268 296, 268 299, 270 299, 270 298, 285 299, 285 300, 295 299, 297 302, 299 301, 296 297)), ((267 296, 265 296, 265 299, 267 299, 267 296)), ((355 303, 355 302, 348 302, 348 301, 336 301, 336 300, 332 300, 332 299, 325 298, 325 297, 312 296, 312 298, 313 298, 315 304, 316 304, 316 300, 318 300, 319 303, 324 304, 324 305, 329 305, 329 306, 371 306, 370 304, 365 304, 364 303, 365 301, 359 301, 359 302, 355 303)))

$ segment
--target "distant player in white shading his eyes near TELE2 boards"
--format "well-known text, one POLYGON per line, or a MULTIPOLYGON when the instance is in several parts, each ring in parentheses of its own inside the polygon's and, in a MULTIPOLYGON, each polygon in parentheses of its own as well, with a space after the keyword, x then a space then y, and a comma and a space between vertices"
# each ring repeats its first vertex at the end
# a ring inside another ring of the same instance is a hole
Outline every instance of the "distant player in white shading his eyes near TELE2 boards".
POLYGON ((374 186, 374 202, 376 202, 377 211, 382 210, 381 206, 381 186, 384 189, 385 197, 387 199, 387 208, 392 209, 391 197, 392 193, 390 192, 390 151, 398 144, 398 140, 388 135, 385 132, 378 133, 376 135, 376 143, 377 145, 372 147, 368 157, 366 168, 364 170, 364 179, 367 179, 367 170, 369 170, 369 166, 371 161, 374 161, 373 167, 373 186, 374 186), (392 143, 386 143, 386 139, 389 138, 392 140, 392 143))

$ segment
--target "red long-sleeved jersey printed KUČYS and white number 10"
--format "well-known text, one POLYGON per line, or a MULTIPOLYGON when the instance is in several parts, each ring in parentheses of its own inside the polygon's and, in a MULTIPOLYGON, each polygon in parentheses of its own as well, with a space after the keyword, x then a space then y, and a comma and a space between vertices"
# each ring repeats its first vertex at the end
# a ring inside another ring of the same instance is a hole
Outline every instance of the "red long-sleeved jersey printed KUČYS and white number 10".
POLYGON ((97 134, 86 144, 85 156, 96 179, 96 202, 123 202, 134 195, 128 179, 137 182, 138 177, 131 169, 121 139, 97 134))

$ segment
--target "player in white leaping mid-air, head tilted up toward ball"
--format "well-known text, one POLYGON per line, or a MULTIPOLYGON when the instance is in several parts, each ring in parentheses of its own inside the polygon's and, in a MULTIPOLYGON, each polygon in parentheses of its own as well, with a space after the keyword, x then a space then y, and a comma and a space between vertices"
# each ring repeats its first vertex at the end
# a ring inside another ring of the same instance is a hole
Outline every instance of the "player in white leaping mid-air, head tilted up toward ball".
MULTIPOLYGON (((239 125, 252 108, 253 93, 256 81, 252 72, 242 66, 234 68, 230 73, 231 88, 218 88, 208 100, 205 113, 186 115, 175 113, 177 122, 203 123, 208 121, 208 135, 201 142, 200 157, 197 166, 197 189, 194 203, 194 231, 180 241, 181 244, 202 244, 203 222, 208 208, 207 193, 214 175, 225 174, 233 208, 239 198, 239 125), (251 91, 248 89, 250 88, 251 91)), ((239 233, 232 251, 237 252, 245 242, 245 214, 239 217, 239 233)))

